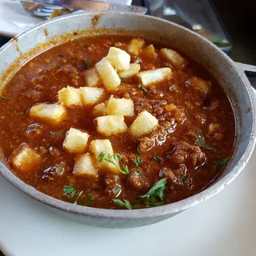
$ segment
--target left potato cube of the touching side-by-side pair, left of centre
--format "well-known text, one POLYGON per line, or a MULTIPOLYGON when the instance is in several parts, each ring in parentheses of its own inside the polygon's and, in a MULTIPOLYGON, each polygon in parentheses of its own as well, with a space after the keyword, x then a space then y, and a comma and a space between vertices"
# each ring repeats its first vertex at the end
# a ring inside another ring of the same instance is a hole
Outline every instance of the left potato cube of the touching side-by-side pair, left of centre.
POLYGON ((67 86, 58 91, 58 102, 64 106, 82 106, 81 91, 67 86))

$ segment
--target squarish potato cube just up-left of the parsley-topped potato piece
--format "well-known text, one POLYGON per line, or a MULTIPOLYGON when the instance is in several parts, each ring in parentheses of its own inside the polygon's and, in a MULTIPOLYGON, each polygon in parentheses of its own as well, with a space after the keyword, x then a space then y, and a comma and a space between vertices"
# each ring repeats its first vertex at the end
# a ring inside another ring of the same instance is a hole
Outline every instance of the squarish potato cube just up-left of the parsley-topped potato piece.
POLYGON ((82 153, 86 149, 89 134, 70 128, 63 142, 64 149, 69 153, 82 153))

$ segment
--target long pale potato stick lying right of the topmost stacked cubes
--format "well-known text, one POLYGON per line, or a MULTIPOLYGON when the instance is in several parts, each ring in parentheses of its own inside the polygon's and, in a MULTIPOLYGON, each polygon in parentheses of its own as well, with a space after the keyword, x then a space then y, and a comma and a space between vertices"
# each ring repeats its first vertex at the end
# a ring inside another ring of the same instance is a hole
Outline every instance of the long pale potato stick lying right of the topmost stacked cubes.
POLYGON ((166 80, 171 74, 171 70, 169 67, 162 67, 158 70, 147 70, 142 71, 137 74, 140 82, 143 86, 150 86, 156 82, 161 82, 166 80))

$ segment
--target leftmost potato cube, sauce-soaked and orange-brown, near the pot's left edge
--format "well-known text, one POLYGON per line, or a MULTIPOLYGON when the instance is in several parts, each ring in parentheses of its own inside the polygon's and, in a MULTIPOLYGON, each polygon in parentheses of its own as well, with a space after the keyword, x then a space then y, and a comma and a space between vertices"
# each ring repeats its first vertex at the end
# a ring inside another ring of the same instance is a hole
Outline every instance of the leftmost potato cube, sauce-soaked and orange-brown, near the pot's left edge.
POLYGON ((24 173, 34 170, 41 162, 40 155, 27 144, 22 144, 10 157, 10 163, 24 173))

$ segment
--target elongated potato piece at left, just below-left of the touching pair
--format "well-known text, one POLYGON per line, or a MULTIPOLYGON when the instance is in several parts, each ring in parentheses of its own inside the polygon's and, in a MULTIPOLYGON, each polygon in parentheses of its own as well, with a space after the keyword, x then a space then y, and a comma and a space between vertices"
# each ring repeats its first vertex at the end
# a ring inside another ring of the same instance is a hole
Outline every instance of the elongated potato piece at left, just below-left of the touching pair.
POLYGON ((58 104, 40 103, 30 108, 30 117, 51 124, 59 124, 66 118, 66 109, 58 104))

